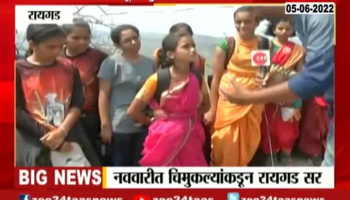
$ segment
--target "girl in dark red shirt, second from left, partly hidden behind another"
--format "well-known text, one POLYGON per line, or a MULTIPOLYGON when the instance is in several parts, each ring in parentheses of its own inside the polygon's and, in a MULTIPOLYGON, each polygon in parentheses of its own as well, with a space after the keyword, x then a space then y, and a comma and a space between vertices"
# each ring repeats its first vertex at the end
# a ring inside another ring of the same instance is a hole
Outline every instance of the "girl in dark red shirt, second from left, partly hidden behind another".
POLYGON ((83 86, 85 103, 81 108, 81 125, 94 150, 101 158, 97 72, 101 62, 108 55, 89 46, 91 30, 87 22, 75 20, 72 24, 64 24, 62 27, 67 36, 61 56, 68 58, 79 71, 83 86))

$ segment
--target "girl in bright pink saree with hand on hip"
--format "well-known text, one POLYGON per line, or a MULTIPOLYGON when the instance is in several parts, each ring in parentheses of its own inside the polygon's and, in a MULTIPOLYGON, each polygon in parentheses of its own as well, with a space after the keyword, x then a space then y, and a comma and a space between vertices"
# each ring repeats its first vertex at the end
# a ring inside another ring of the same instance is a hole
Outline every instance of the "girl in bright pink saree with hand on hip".
MULTIPOLYGON (((207 166, 203 145, 205 134, 198 109, 208 98, 206 83, 190 69, 196 52, 190 36, 167 35, 162 42, 163 69, 170 78, 168 89, 156 99, 159 72, 151 75, 128 108, 128 114, 149 125, 143 143, 141 166, 207 166), (205 101, 205 100, 204 100, 205 101), (142 110, 149 104, 151 120, 142 110)), ((209 102, 207 105, 208 107, 209 102)), ((202 112, 204 112, 203 110, 202 112)))

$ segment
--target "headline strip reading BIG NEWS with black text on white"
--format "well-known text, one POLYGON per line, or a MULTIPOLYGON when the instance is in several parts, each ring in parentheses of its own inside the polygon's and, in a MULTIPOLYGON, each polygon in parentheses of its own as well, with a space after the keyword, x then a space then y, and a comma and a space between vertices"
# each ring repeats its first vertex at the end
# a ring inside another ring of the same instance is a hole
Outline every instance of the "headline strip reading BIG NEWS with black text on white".
POLYGON ((333 188, 323 167, 103 167, 22 168, 18 188, 333 188))

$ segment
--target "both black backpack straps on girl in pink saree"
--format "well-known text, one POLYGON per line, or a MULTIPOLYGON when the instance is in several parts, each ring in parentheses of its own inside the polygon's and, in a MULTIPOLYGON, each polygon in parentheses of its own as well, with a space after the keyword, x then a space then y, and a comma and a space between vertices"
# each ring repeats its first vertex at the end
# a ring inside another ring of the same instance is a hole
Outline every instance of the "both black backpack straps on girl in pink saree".
MULTIPOLYGON (((199 88, 200 88, 200 85, 202 84, 202 81, 203 81, 201 73, 194 68, 191 68, 190 70, 197 77, 197 79, 199 81, 199 88)), ((170 81, 171 81, 170 68, 167 67, 167 68, 158 69, 158 71, 157 71, 157 86, 156 86, 155 93, 154 93, 154 98, 157 102, 160 101, 161 93, 169 88, 170 81)))

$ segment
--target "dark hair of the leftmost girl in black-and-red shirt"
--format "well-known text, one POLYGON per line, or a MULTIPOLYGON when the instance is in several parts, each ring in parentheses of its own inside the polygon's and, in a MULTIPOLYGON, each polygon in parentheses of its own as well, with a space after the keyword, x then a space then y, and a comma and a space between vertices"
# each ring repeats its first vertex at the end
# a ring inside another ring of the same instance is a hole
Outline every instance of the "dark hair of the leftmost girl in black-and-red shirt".
MULTIPOLYGON (((52 37, 65 37, 64 30, 55 23, 50 24, 29 24, 26 28, 26 40, 36 44, 48 40, 52 37)), ((32 49, 28 49, 25 56, 29 56, 32 49)))

